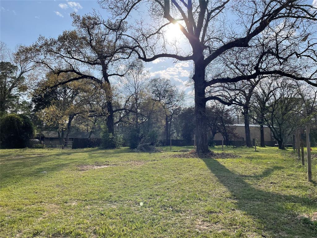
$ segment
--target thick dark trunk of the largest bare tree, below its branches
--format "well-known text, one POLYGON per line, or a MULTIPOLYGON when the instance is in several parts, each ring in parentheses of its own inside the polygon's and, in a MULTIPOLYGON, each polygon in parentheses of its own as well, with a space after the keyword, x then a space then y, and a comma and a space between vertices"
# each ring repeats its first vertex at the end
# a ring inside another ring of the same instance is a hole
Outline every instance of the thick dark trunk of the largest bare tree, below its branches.
POLYGON ((195 88, 195 119, 196 119, 196 152, 207 153, 207 125, 206 125, 206 99, 205 99, 205 67, 200 63, 195 63, 195 73, 193 76, 195 88))

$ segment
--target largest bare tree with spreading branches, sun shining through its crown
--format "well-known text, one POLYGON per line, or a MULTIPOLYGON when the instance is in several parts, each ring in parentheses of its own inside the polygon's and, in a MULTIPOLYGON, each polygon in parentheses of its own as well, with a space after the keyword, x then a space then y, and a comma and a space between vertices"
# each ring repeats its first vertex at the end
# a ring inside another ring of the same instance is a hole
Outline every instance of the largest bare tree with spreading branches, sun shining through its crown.
MULTIPOLYGON (((100 0, 101 7, 111 11, 116 23, 125 24, 131 14, 142 14, 141 3, 146 3, 150 23, 135 20, 122 34, 130 41, 131 49, 139 59, 151 62, 160 57, 194 63, 195 114, 197 152, 208 151, 206 134, 206 102, 215 99, 206 95, 206 88, 217 83, 235 83, 255 79, 259 75, 281 75, 315 83, 316 71, 304 61, 297 71, 309 69, 305 77, 298 76, 288 62, 306 58, 316 65, 314 39, 301 41, 316 31, 316 8, 306 1, 110 1, 100 0), (233 19, 226 20, 226 14, 233 19), (165 30, 176 24, 188 46, 168 45, 165 30), (296 34, 294 34, 296 29, 296 34), (275 37, 278 31, 281 37, 275 37), (273 33, 273 34, 272 34, 273 33), (288 42, 288 43, 286 43, 288 42), (271 45, 271 47, 263 47, 271 45), (275 45, 275 47, 272 47, 275 45), (282 47, 283 46, 283 47, 282 47), (251 73, 239 76, 226 74, 222 56, 236 49, 259 52, 258 63, 251 73), (263 61, 275 67, 262 68, 263 61), (208 67, 208 72, 206 71, 208 67), (210 70, 212 69, 212 70, 210 70), (210 76, 206 78, 206 74, 210 76)), ((137 18, 137 17, 136 17, 137 18)), ((143 19, 143 18, 142 18, 143 19)), ((102 22, 107 25, 107 22, 102 22)))

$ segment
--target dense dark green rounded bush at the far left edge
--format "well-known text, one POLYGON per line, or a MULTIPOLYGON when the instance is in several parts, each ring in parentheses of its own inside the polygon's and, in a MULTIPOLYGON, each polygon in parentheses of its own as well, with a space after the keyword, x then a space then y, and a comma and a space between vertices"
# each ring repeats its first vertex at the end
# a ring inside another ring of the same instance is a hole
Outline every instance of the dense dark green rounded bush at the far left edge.
POLYGON ((6 148, 24 148, 34 136, 30 119, 25 115, 8 114, 0 124, 1 146, 6 148))

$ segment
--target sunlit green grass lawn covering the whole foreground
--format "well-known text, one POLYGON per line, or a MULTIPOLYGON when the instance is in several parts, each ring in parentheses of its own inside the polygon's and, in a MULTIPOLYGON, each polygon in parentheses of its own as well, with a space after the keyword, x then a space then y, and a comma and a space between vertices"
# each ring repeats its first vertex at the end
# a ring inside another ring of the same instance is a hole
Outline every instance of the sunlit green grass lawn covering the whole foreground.
POLYGON ((179 149, 3 149, 0 237, 317 237, 299 218, 317 212, 317 185, 292 149, 179 149))

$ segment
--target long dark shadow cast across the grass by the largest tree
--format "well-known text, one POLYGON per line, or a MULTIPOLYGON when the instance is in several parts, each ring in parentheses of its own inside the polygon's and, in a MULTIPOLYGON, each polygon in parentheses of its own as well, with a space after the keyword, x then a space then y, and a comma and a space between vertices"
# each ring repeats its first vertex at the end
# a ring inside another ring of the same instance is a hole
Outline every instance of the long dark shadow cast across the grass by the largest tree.
MULTIPOLYGON (((252 216, 256 223, 261 224, 260 227, 263 226, 266 237, 317 237, 317 231, 301 223, 296 214, 299 206, 317 208, 317 201, 255 188, 244 181, 251 176, 237 175, 214 159, 202 160, 234 196, 237 208, 252 216)), ((269 176, 275 169, 267 169, 262 175, 253 177, 269 176)))

